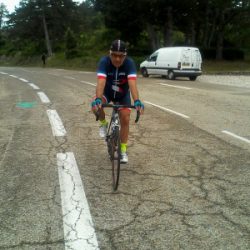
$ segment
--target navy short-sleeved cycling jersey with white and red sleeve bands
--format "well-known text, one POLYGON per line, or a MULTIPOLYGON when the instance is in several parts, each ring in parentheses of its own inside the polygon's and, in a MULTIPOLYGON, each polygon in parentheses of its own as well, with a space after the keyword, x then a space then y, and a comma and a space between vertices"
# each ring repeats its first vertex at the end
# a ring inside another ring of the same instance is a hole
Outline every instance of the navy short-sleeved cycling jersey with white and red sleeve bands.
MULTIPOLYGON (((123 64, 116 68, 109 56, 101 58, 98 69, 98 79, 106 79, 104 96, 109 101, 120 101, 129 95, 128 80, 136 80, 136 67, 129 57, 124 59, 123 64)), ((127 99, 127 98, 126 98, 127 99)))

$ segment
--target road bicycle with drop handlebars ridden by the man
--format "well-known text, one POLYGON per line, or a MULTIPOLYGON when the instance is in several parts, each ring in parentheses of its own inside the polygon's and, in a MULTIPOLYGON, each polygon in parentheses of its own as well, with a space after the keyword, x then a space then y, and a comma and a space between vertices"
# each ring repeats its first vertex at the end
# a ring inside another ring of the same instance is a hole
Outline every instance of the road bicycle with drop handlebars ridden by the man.
MULTIPOLYGON (((108 154, 112 162, 112 187, 113 191, 116 191, 119 184, 120 177, 120 155, 121 155, 121 138, 120 138, 120 108, 132 108, 134 105, 121 105, 121 104, 102 104, 103 108, 113 108, 111 119, 108 125, 108 131, 106 135, 106 143, 108 148, 108 154)), ((135 123, 140 118, 140 112, 137 110, 135 123)), ((99 114, 96 114, 96 120, 99 119, 99 114)))

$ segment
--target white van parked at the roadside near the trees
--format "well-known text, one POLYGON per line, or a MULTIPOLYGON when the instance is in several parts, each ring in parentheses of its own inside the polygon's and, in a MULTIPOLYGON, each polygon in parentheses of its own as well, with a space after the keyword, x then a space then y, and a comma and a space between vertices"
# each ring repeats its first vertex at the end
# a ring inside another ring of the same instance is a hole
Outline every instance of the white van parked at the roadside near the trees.
POLYGON ((194 47, 166 47, 156 50, 140 64, 141 74, 168 76, 170 80, 175 77, 189 77, 195 81, 201 72, 201 54, 194 47))

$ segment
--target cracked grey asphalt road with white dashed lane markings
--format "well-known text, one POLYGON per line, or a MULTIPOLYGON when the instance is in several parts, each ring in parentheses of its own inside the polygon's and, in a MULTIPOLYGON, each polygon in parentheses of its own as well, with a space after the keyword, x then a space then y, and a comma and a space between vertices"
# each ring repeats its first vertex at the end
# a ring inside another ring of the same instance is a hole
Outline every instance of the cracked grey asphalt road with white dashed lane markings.
POLYGON ((250 249, 250 88, 139 77, 113 193, 95 82, 0 68, 0 249, 250 249))

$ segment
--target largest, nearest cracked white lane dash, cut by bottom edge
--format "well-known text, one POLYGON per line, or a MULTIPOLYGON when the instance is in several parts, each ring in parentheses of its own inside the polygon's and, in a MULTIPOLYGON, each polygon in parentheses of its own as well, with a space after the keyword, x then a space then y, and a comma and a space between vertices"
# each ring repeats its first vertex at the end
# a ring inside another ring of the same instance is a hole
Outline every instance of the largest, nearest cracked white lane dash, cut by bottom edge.
POLYGON ((58 153, 65 249, 99 249, 88 201, 72 152, 58 153))

